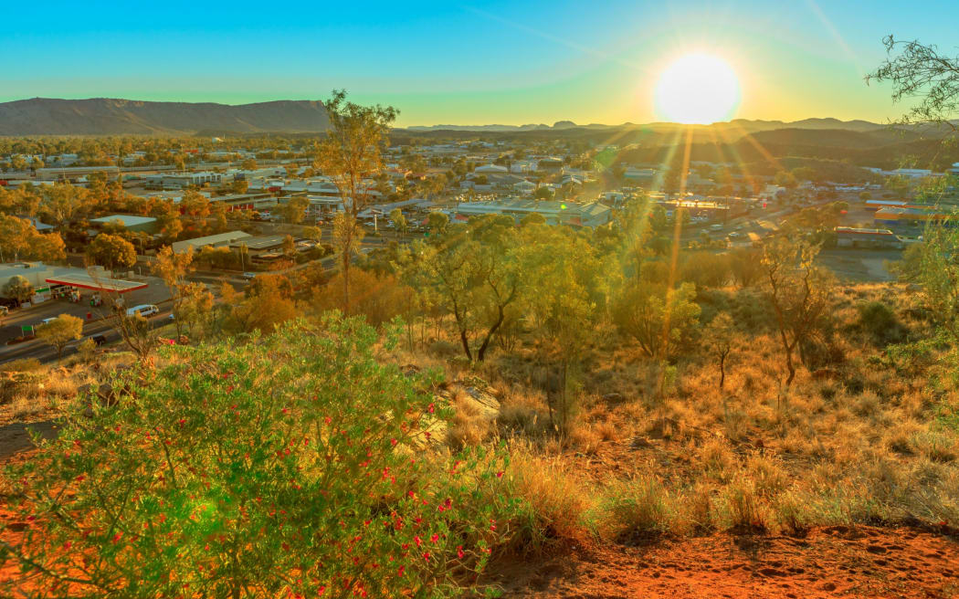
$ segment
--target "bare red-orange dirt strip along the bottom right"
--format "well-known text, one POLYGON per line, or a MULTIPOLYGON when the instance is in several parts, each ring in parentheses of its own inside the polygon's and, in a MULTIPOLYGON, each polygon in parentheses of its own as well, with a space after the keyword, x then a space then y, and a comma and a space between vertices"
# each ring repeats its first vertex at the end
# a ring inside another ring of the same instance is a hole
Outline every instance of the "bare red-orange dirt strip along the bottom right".
POLYGON ((510 599, 959 597, 959 541, 909 528, 576 547, 492 569, 510 599))

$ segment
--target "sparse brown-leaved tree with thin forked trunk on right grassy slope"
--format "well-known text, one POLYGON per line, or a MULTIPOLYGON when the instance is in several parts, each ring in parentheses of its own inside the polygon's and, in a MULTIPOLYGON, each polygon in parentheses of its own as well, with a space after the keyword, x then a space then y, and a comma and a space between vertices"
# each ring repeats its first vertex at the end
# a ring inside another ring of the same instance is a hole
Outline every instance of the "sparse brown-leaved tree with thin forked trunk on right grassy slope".
POLYGON ((783 345, 788 387, 796 378, 793 352, 823 330, 829 318, 832 280, 829 273, 813 265, 819 245, 778 237, 762 247, 762 271, 766 295, 776 316, 783 345))

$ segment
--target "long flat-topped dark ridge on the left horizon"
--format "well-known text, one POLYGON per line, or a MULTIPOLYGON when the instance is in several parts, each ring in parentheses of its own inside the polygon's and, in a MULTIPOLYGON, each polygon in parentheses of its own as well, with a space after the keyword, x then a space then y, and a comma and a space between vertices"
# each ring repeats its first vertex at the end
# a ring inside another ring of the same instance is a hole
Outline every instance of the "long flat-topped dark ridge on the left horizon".
POLYGON ((183 135, 200 130, 238 133, 316 132, 329 126, 320 102, 192 104, 110 98, 34 98, 0 103, 0 135, 183 135))

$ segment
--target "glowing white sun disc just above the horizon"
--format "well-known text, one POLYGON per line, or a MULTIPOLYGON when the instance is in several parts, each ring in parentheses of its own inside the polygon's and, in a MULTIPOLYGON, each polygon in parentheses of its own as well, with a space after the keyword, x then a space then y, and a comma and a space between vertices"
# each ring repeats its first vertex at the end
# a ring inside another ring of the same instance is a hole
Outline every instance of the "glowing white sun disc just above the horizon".
POLYGON ((675 123, 708 125, 730 118, 739 104, 739 79, 722 58, 688 54, 673 61, 656 84, 656 110, 675 123))

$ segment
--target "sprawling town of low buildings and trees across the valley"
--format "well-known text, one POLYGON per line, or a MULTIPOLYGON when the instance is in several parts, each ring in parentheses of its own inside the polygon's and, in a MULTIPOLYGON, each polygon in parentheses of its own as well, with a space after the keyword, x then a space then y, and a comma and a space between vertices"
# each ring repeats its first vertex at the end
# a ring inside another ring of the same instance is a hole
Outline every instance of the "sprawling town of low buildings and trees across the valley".
MULTIPOLYGON (((129 307, 156 306, 157 324, 175 318, 171 293, 154 273, 164 246, 176 254, 191 250, 191 280, 218 298, 219 283, 244 288, 260 273, 286 277, 295 289, 328 279, 336 268, 333 219, 350 196, 316 167, 310 143, 258 141, 58 143, 76 151, 31 140, 0 145, 0 205, 8 221, 0 241, 8 345, 0 359, 53 358, 59 352, 34 337, 58 313, 82 318, 83 338, 104 342, 111 337, 105 296, 120 294, 129 307), (143 145, 151 148, 137 149, 143 145), (48 253, 37 236, 57 237, 49 246, 62 249, 48 253)), ((944 173, 865 167, 830 181, 803 167, 752 175, 712 162, 692 162, 680 173, 620 162, 620 150, 630 149, 611 145, 409 141, 386 148, 383 169, 363 179, 357 218, 364 260, 428 238, 450 221, 506 215, 519 225, 536 215, 550 225, 596 230, 616 228, 624 210, 643 202, 667 220, 683 219, 685 248, 724 252, 758 246, 810 209, 841 206, 827 219, 827 249, 880 251, 827 251, 823 259, 854 280, 886 281, 892 277, 882 261, 917 242, 926 222, 951 216, 944 197, 952 187, 928 190, 959 174, 959 164, 944 173)))

